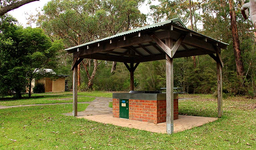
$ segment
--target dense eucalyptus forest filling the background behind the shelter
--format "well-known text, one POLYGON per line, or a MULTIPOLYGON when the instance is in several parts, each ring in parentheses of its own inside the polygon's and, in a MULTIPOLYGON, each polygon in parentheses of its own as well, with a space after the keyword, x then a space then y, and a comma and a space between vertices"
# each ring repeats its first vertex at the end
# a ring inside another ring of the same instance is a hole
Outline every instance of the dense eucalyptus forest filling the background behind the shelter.
MULTIPOLYGON (((255 96, 256 35, 251 21, 241 15, 244 1, 158 1, 159 5, 149 1, 151 12, 142 14, 139 7, 144 0, 52 0, 42 12, 30 16, 28 23, 36 23, 52 42, 61 41, 64 48, 69 48, 179 17, 188 28, 229 44, 228 50, 221 50, 224 96, 255 96)), ((4 16, 2 22, 8 14, 4 16)), ((51 69, 69 75, 66 79, 71 89, 72 56, 66 55, 64 48, 58 51, 51 69)), ((82 91, 130 89, 130 73, 122 63, 85 59, 79 68, 82 91)), ((216 62, 208 55, 174 59, 174 87, 187 93, 213 94, 217 91, 216 70, 216 62)), ((165 60, 141 63, 134 78, 135 90, 160 90, 166 86, 165 60)))

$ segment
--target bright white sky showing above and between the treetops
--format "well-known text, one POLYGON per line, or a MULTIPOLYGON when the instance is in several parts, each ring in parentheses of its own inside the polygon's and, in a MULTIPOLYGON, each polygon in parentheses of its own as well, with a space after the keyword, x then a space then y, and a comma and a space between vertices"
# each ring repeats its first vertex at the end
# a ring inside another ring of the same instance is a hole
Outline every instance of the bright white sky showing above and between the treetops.
MULTIPOLYGON (((27 18, 29 17, 29 15, 36 15, 37 11, 41 11, 43 6, 46 5, 49 1, 50 0, 40 0, 31 2, 17 9, 14 9, 8 13, 11 14, 14 18, 16 18, 23 27, 27 27, 30 26, 26 24, 28 22, 27 18)), ((140 11, 144 14, 149 13, 150 10, 149 6, 146 5, 147 3, 148 0, 145 0, 145 3, 139 8, 140 11)), ((36 27, 35 24, 32 24, 31 26, 36 27)))

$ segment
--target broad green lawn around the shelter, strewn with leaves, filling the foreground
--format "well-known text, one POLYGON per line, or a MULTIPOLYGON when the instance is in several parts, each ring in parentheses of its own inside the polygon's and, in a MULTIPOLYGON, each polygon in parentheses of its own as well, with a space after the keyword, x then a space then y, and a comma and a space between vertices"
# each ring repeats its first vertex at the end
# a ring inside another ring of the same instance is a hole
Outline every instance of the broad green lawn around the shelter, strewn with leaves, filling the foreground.
MULTIPOLYGON (((217 99, 186 95, 181 114, 216 117, 217 99)), ((78 111, 86 104, 78 104, 78 111)), ((102 124, 61 113, 71 104, 0 109, 0 149, 256 149, 256 99, 228 97, 224 115, 172 135, 102 124)))

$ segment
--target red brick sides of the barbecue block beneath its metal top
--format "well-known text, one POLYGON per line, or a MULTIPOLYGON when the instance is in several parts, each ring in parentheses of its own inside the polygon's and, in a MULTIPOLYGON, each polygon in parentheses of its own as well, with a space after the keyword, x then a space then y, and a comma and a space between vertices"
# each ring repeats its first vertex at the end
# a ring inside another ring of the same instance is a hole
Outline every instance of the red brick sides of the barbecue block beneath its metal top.
MULTIPOLYGON (((119 99, 113 99, 113 117, 119 118, 119 99)), ((155 124, 166 122, 166 100, 129 99, 129 119, 155 124)), ((179 119, 178 99, 174 99, 176 119, 179 119)))

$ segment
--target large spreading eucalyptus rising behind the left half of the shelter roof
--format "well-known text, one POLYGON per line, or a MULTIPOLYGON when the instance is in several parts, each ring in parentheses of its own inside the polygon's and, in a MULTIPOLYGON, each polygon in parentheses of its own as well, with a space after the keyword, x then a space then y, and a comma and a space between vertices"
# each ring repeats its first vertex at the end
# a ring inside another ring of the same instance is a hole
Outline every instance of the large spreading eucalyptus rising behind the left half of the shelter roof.
MULTIPOLYGON (((142 2, 143 0, 52 0, 44 6, 38 25, 52 40, 63 39, 66 48, 77 46, 141 26, 146 20, 146 15, 138 10, 142 2)), ((89 75, 89 69, 86 69, 90 67, 91 60, 83 61, 89 80, 87 86, 91 88, 94 76, 89 75)), ((93 60, 93 64, 92 72, 96 72, 99 62, 93 60)), ((78 72, 78 84, 79 80, 78 72)))

